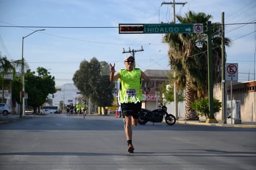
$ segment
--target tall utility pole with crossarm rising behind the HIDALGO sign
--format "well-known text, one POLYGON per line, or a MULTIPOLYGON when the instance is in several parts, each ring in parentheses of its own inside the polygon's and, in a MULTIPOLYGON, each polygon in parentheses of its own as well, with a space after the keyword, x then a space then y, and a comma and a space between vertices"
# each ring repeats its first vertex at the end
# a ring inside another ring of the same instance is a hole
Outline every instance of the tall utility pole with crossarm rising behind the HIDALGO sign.
MULTIPOLYGON (((187 4, 187 2, 175 2, 175 0, 173 0, 173 2, 162 2, 161 3, 161 6, 164 5, 164 4, 168 4, 168 5, 172 5, 173 6, 173 23, 176 23, 176 18, 175 18, 175 5, 182 5, 184 6, 185 4, 187 4)), ((176 72, 173 72, 173 77, 175 78, 176 77, 176 72)), ((173 98, 174 98, 174 101, 173 101, 173 104, 174 104, 174 107, 173 107, 173 113, 174 115, 177 117, 178 119, 178 113, 177 113, 177 89, 176 89, 176 82, 173 83, 173 91, 174 91, 174 94, 173 94, 173 98)))

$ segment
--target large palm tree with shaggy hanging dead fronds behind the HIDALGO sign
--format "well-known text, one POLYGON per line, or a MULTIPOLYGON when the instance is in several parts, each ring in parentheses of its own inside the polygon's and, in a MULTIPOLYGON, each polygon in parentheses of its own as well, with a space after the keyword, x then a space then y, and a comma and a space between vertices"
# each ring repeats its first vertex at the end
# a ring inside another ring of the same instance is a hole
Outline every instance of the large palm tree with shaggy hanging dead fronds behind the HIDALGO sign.
MULTIPOLYGON (((180 23, 207 23, 211 15, 189 11, 185 17, 176 16, 180 23)), ((205 26, 206 27, 206 26, 205 26)), ((164 43, 169 43, 169 64, 174 72, 177 88, 186 90, 186 120, 198 120, 190 104, 208 95, 207 80, 207 34, 166 34, 164 43)), ((213 75, 214 82, 221 81, 221 35, 220 23, 213 24, 213 75)), ((226 38, 225 45, 230 45, 226 38)))

